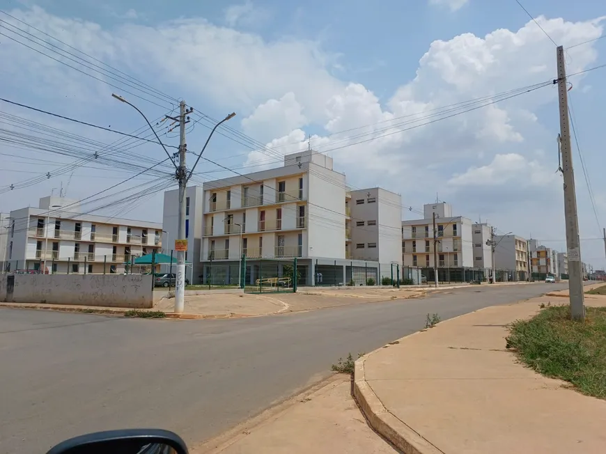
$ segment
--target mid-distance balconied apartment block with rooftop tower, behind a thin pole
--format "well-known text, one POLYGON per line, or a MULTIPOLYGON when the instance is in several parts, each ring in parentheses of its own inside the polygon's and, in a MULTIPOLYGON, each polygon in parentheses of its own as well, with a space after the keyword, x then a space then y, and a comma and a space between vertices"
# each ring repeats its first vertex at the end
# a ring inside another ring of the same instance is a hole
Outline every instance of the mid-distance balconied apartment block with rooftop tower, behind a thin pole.
POLYGON ((473 224, 470 219, 453 216, 449 203, 424 205, 424 219, 402 221, 402 256, 404 267, 426 269, 428 281, 433 280, 433 213, 436 214, 438 280, 479 279, 474 269, 473 224))

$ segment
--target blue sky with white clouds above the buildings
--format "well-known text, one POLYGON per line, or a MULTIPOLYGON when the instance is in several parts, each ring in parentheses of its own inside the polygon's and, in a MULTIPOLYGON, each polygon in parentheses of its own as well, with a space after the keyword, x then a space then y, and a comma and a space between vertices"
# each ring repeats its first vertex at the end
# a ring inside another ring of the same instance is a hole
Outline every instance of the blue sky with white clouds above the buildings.
POLYGON ((606 8, 520 3, 534 19, 515 0, 0 0, 0 97, 106 128, 0 101, 0 211, 63 191, 87 212, 162 221, 172 164, 157 164, 165 150, 116 93, 169 154, 178 131, 160 120, 185 100, 189 163, 235 112, 190 184, 311 144, 352 187, 401 194, 404 219, 437 199, 565 251, 555 42, 571 75, 582 260, 604 269, 606 8))

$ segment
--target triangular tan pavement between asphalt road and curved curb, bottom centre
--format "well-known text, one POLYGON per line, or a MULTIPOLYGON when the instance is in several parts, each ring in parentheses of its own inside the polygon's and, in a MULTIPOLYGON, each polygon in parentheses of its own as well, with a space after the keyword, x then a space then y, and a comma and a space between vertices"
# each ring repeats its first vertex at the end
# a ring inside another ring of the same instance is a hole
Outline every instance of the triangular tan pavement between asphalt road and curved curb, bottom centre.
POLYGON ((192 454, 395 454, 373 432, 350 395, 350 377, 336 375, 251 421, 190 446, 192 454))

